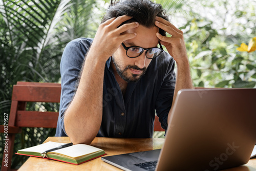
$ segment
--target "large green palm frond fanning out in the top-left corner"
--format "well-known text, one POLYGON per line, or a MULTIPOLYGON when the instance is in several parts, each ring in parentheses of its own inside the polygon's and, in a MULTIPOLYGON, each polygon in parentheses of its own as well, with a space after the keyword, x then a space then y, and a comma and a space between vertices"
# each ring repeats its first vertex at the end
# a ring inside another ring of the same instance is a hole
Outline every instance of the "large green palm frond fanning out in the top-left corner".
POLYGON ((2 1, 2 13, 9 28, 9 41, 16 49, 15 54, 22 54, 30 47, 32 51, 29 53, 36 56, 33 61, 35 70, 38 69, 41 52, 53 36, 53 28, 68 8, 69 1, 2 1))

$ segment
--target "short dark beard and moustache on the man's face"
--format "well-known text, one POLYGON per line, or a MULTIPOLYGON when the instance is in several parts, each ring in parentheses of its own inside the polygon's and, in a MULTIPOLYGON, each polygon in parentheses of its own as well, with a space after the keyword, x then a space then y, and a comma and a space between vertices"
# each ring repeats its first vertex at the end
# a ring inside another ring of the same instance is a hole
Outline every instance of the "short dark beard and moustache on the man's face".
POLYGON ((118 62, 115 61, 114 57, 112 56, 111 58, 114 63, 114 66, 116 68, 117 74, 126 82, 137 82, 140 80, 142 75, 144 75, 146 72, 146 67, 141 69, 138 66, 132 66, 132 65, 127 65, 122 70, 120 65, 118 64, 118 62), (143 71, 143 72, 141 74, 132 74, 131 76, 129 76, 129 73, 127 72, 128 69, 139 70, 139 71, 143 71))

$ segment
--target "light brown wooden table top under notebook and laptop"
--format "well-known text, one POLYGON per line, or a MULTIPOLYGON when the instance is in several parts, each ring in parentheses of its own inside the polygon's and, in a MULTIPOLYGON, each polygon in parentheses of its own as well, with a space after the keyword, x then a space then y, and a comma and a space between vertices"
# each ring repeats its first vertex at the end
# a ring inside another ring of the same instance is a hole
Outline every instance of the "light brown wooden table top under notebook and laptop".
MULTIPOLYGON (((69 137, 49 137, 45 142, 69 143, 69 137)), ((107 155, 117 155, 139 151, 148 151, 162 148, 162 138, 102 138, 96 137, 91 143, 92 146, 104 149, 107 155)), ((46 160, 37 157, 30 157, 18 170, 121 170, 115 166, 103 162, 100 158, 82 163, 80 165, 68 164, 54 160, 46 160)), ((225 171, 252 171, 256 170, 256 158, 249 160, 243 166, 225 169, 225 171)))

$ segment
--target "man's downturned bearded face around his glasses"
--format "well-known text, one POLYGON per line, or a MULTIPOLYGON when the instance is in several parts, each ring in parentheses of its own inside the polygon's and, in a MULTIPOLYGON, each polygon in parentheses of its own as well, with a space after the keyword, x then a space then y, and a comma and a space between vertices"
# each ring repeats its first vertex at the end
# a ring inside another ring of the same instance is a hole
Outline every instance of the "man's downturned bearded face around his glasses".
MULTIPOLYGON (((126 47, 139 46, 142 48, 153 48, 158 45, 158 38, 156 33, 158 27, 146 28, 139 25, 135 29, 127 30, 125 33, 136 32, 137 36, 133 39, 123 41, 126 47)), ((112 55, 113 65, 112 68, 118 73, 118 75, 126 82, 138 81, 140 77, 145 73, 148 65, 152 59, 146 58, 144 51, 140 56, 136 58, 130 58, 126 56, 126 50, 120 45, 117 51, 112 55)))

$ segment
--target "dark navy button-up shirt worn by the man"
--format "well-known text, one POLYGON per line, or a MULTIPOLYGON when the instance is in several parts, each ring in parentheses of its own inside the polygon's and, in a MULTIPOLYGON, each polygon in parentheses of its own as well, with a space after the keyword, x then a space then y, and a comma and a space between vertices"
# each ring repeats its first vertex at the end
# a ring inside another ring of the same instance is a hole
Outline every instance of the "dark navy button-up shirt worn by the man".
MULTIPOLYGON (((69 42, 60 62, 61 97, 55 136, 67 136, 63 117, 76 89, 84 55, 93 39, 78 38, 69 42)), ((146 73, 137 82, 127 84, 123 97, 111 67, 106 61, 103 81, 102 122, 98 137, 152 138, 155 111, 163 129, 167 129, 168 112, 172 106, 175 72, 174 59, 166 52, 152 59, 146 73)))

